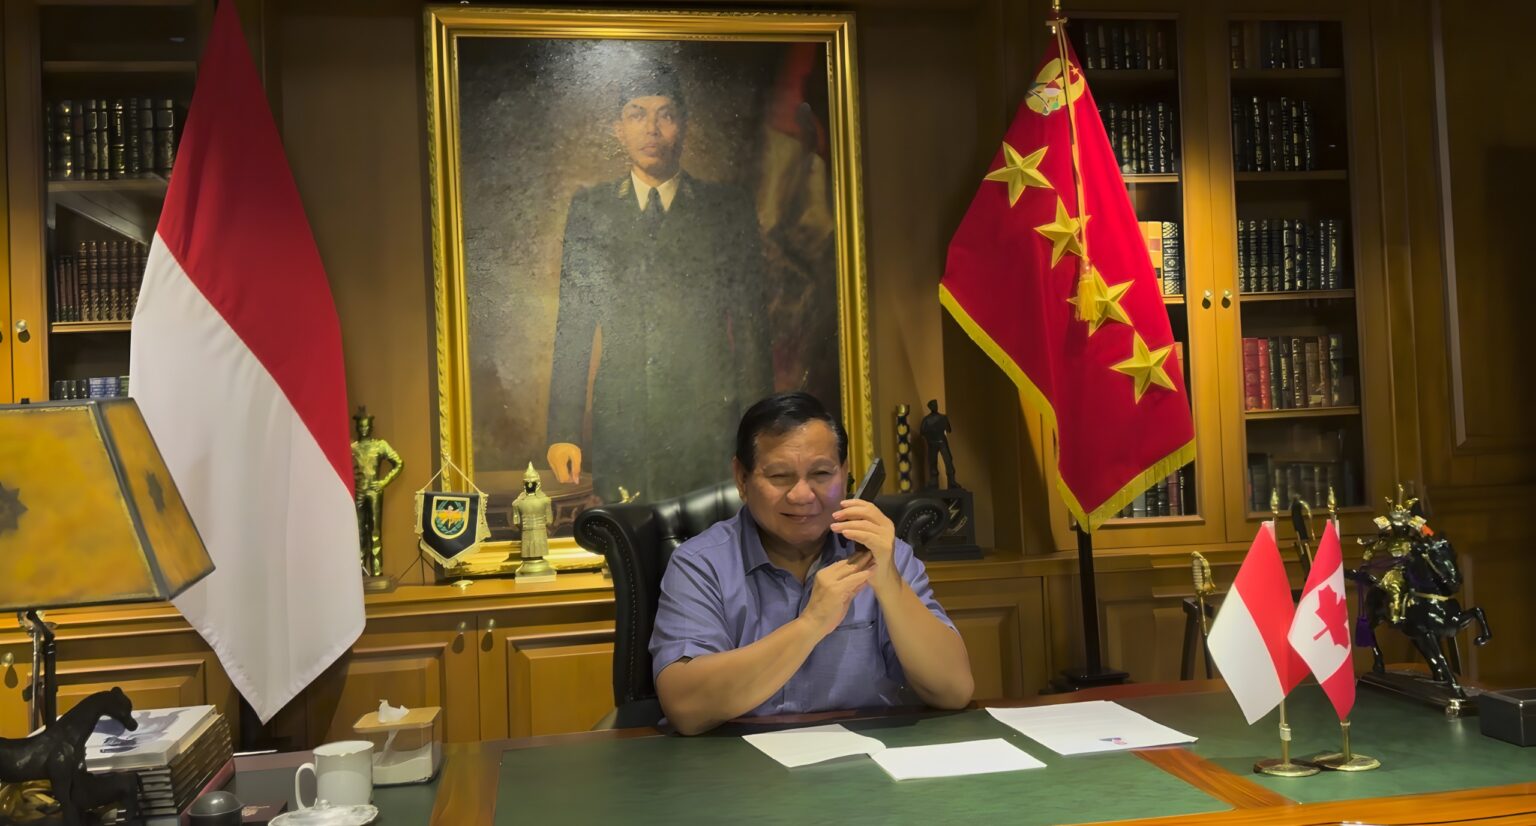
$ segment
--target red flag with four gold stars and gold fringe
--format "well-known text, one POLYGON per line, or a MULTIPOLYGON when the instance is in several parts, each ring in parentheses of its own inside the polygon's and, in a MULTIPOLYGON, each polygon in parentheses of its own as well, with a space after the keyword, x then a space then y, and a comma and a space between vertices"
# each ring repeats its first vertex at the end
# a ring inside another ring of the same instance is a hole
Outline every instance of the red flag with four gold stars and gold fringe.
POLYGON ((1193 461, 1195 427, 1161 287, 1064 38, 989 169, 938 296, 1055 428, 1061 496, 1094 530, 1193 461))

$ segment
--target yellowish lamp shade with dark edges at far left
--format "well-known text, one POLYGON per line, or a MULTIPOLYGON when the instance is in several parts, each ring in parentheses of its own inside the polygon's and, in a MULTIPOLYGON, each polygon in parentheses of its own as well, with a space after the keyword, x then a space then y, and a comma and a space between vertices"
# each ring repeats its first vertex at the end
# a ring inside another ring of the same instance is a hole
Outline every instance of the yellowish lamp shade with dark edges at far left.
POLYGON ((134 399, 0 405, 0 611, 164 600, 212 570, 134 399))

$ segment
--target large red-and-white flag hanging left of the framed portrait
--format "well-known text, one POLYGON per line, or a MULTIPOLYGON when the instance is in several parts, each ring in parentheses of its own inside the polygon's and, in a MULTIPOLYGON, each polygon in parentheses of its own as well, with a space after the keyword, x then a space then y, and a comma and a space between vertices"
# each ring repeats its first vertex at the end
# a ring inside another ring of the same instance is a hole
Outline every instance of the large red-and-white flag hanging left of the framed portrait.
POLYGON ((134 312, 132 395, 214 557, 175 605, 263 722, 362 633, 341 327, 235 3, 134 312))

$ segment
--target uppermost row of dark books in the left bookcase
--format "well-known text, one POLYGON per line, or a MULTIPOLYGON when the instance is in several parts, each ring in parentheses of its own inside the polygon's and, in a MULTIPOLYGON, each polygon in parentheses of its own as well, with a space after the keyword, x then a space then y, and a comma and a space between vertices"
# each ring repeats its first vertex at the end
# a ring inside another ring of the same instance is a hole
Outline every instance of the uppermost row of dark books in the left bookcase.
POLYGON ((43 164, 55 181, 167 177, 178 121, 170 98, 52 101, 43 107, 43 164))

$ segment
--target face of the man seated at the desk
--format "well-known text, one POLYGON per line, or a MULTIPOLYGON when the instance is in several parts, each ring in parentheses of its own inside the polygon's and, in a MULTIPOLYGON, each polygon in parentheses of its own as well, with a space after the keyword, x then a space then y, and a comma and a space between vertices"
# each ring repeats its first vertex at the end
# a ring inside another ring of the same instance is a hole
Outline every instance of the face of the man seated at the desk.
POLYGON ((848 473, 837 461, 837 434, 809 421, 782 434, 757 436, 757 467, 736 464, 736 490, 757 525, 788 545, 820 542, 843 501, 848 473))

